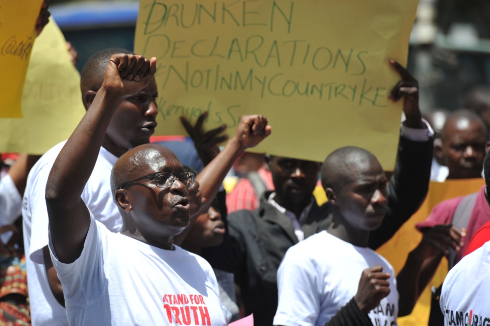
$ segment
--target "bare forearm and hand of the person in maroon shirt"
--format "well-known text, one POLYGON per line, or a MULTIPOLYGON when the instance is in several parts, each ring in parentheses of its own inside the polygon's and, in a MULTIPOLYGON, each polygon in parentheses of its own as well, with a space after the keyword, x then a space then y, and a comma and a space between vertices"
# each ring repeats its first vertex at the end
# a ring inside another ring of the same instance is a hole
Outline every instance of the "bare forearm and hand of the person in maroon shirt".
POLYGON ((405 266, 396 277, 400 294, 398 317, 412 312, 418 297, 434 276, 441 258, 449 254, 449 247, 460 251, 463 246, 461 239, 465 235, 465 230, 460 231, 451 225, 437 225, 423 231, 422 241, 408 255, 405 266))

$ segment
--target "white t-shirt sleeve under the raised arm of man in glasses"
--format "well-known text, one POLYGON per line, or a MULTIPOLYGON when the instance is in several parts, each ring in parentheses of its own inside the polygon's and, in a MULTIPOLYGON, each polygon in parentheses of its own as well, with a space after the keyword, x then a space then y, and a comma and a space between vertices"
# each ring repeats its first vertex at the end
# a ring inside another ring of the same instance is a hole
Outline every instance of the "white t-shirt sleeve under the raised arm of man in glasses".
POLYGON ((49 236, 49 252, 63 285, 65 300, 77 306, 87 306, 96 303, 99 299, 107 281, 104 273, 103 247, 108 243, 109 232, 90 213, 90 226, 82 253, 71 264, 64 264, 58 260, 49 236))

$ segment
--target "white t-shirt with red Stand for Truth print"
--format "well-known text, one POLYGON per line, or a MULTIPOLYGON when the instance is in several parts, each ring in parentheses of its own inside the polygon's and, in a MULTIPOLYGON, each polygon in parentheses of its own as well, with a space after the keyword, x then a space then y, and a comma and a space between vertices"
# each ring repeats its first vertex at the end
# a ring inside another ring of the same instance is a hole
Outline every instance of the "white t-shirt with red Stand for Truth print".
POLYGON ((109 232, 91 214, 73 263, 51 259, 70 325, 226 325, 218 282, 204 258, 109 232))

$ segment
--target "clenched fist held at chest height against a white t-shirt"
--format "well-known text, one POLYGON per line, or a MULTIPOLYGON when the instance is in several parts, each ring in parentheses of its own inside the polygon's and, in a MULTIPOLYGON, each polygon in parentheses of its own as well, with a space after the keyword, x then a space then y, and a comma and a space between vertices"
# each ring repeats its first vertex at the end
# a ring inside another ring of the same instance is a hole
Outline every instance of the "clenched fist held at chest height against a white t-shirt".
POLYGON ((387 281, 390 277, 390 274, 383 273, 382 266, 373 266, 362 272, 359 288, 354 296, 362 312, 367 314, 390 294, 390 282, 387 281))

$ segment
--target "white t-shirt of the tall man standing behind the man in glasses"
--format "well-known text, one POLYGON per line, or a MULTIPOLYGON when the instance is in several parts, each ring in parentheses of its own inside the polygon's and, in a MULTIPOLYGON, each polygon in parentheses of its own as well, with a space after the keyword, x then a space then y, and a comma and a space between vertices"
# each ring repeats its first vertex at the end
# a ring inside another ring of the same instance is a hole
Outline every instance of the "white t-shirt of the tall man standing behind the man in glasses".
MULTIPOLYGON (((51 148, 34 164, 27 177, 24 193, 22 216, 25 261, 33 326, 68 325, 65 308, 56 301, 49 289, 42 252, 49 243, 46 183, 65 142, 51 148)), ((110 183, 112 166, 117 159, 105 148, 100 148, 97 163, 81 196, 95 218, 112 232, 119 232, 123 225, 121 213, 112 199, 110 183)))

